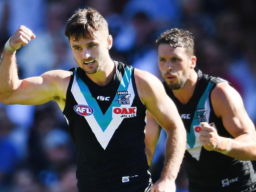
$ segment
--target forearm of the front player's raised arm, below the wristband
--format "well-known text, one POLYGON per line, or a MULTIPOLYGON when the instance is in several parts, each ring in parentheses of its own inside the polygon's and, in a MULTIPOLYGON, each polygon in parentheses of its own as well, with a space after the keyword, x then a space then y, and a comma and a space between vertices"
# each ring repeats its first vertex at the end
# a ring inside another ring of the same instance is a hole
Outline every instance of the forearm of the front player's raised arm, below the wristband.
POLYGON ((8 52, 5 49, 0 60, 0 82, 1 98, 11 94, 19 83, 15 53, 8 52))

